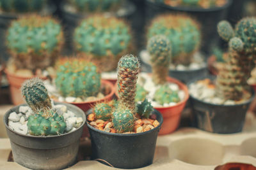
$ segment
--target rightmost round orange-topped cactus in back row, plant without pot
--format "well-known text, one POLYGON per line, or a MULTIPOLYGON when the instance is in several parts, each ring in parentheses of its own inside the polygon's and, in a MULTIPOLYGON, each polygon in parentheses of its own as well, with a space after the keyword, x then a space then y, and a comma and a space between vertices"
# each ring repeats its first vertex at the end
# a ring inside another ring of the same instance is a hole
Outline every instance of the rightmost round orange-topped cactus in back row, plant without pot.
POLYGON ((198 23, 186 15, 160 15, 148 29, 148 38, 163 34, 172 45, 172 62, 188 65, 201 43, 198 23))

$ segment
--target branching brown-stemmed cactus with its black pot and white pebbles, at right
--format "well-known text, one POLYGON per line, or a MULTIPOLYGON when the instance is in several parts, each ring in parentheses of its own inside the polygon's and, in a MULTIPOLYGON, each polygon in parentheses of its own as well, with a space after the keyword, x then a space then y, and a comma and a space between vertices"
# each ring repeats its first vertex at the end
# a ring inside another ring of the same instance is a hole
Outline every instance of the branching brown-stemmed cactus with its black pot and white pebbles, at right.
POLYGON ((210 80, 191 82, 189 93, 196 125, 205 131, 241 132, 254 93, 246 80, 255 66, 255 18, 243 18, 236 29, 227 21, 218 24, 218 32, 228 41, 228 53, 219 67, 216 83, 210 80), (229 118, 232 117, 232 122, 229 118))

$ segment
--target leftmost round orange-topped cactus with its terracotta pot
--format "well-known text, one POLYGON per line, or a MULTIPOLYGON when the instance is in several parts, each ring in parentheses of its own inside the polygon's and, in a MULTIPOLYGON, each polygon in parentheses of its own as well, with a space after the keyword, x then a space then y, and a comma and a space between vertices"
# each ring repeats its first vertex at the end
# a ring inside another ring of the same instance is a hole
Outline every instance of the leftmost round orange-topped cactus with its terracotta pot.
POLYGON ((62 42, 61 25, 51 17, 29 15, 13 20, 6 34, 11 58, 5 70, 13 104, 23 103, 20 85, 24 80, 52 74, 62 42))

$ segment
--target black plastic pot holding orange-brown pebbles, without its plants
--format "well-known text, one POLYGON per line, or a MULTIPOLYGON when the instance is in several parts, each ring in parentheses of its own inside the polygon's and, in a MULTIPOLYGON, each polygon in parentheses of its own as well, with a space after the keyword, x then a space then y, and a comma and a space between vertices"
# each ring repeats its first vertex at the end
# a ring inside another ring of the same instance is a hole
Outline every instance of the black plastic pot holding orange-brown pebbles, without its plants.
MULTIPOLYGON (((91 113, 88 111, 88 114, 91 113)), ((100 131, 88 122, 92 139, 92 159, 117 168, 132 169, 145 167, 153 162, 157 134, 163 123, 161 113, 154 110, 152 114, 160 123, 156 128, 136 134, 115 134, 100 131)))

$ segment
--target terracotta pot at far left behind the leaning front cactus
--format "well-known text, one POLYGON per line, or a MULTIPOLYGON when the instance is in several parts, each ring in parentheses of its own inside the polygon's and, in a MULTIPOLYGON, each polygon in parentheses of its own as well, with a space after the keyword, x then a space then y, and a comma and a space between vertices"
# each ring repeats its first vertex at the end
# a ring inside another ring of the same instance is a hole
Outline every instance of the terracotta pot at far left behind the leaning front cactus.
MULTIPOLYGON (((4 70, 4 73, 6 74, 6 78, 10 83, 10 94, 11 94, 11 99, 12 103, 14 105, 19 105, 25 103, 20 87, 22 83, 28 79, 35 78, 38 76, 17 76, 13 73, 9 73, 7 69, 4 70)), ((42 80, 46 80, 46 77, 40 77, 42 80)))

